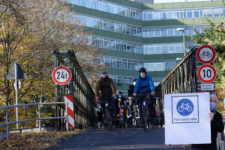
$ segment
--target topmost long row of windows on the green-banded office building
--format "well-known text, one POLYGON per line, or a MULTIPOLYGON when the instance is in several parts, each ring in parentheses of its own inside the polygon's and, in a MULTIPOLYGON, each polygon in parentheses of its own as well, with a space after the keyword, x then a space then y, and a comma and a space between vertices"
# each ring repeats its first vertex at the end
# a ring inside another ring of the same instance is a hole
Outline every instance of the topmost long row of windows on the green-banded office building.
POLYGON ((69 4, 96 9, 116 15, 121 15, 138 20, 165 20, 201 17, 222 17, 225 16, 224 7, 220 8, 198 8, 184 10, 139 10, 100 0, 61 0, 69 4))

